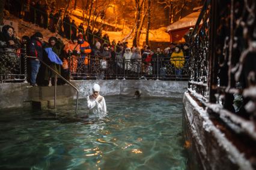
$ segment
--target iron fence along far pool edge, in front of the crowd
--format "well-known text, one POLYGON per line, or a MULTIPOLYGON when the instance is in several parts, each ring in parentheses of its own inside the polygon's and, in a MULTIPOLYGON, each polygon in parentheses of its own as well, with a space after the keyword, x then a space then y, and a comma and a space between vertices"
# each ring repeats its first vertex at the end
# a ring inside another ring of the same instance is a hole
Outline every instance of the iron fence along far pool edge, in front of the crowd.
POLYGON ((151 80, 184 80, 189 72, 188 60, 181 58, 156 57, 147 59, 114 59, 88 56, 69 57, 69 74, 75 80, 95 79, 151 79, 151 80), (181 65, 175 68, 174 65, 181 65), (179 71, 179 72, 178 72, 179 71))

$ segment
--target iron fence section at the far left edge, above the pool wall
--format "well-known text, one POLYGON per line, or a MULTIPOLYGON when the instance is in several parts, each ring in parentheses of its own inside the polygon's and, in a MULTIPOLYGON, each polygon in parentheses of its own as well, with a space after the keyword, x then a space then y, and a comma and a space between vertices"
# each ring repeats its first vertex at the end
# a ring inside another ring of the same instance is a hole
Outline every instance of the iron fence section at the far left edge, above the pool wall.
POLYGON ((25 49, 0 47, 0 82, 26 81, 25 49))

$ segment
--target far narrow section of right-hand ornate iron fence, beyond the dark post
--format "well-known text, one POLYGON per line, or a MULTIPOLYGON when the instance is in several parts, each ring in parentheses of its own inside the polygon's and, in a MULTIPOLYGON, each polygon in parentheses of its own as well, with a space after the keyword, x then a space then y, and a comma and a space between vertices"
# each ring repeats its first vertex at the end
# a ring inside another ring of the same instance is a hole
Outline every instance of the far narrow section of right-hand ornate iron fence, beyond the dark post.
POLYGON ((197 24, 190 35, 190 76, 189 91, 198 94, 198 98, 209 98, 209 37, 210 37, 210 1, 206 1, 198 17, 197 24))

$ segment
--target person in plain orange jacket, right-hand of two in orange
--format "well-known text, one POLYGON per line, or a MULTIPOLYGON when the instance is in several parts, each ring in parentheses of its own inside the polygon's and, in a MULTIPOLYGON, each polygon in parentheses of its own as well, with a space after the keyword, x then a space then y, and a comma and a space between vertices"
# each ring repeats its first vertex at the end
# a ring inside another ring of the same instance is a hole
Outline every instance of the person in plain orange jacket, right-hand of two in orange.
POLYGON ((88 69, 88 65, 90 63, 88 59, 88 54, 91 53, 91 47, 90 47, 90 44, 84 40, 83 35, 81 33, 78 34, 78 44, 79 44, 78 47, 80 48, 80 52, 81 52, 81 59, 79 60, 79 68, 82 65, 85 65, 85 69, 88 69))

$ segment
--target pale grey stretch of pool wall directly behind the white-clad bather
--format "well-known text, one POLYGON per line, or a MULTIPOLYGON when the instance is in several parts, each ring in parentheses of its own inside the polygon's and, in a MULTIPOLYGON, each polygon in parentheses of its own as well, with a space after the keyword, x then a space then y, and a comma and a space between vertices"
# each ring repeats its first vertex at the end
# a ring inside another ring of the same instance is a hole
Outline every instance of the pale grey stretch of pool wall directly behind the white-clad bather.
POLYGON ((186 81, 156 81, 156 80, 88 80, 72 81, 79 89, 79 98, 86 98, 91 93, 91 87, 98 83, 100 93, 106 95, 133 96, 136 90, 141 96, 163 96, 167 98, 183 98, 187 90, 186 81))

